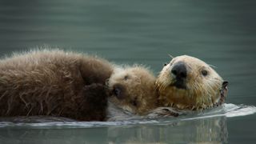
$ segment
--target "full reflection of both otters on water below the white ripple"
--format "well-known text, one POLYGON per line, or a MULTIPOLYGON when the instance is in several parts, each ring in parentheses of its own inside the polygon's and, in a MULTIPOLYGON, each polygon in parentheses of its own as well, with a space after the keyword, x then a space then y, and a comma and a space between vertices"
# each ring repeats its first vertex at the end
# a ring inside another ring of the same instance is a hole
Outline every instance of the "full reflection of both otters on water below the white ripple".
POLYGON ((164 125, 106 126, 86 129, 0 129, 0 143, 227 142, 226 117, 164 125))

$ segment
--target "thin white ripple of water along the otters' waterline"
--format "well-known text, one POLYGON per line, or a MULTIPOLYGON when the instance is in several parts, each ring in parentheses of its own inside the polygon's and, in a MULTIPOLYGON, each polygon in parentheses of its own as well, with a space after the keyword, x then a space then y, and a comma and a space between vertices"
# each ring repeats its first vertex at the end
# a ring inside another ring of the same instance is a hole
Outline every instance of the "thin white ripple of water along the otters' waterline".
POLYGON ((159 118, 159 119, 134 119, 129 121, 118 122, 40 122, 40 123, 14 123, 0 122, 0 128, 40 128, 40 129, 64 129, 64 128, 90 128, 90 127, 105 127, 105 126, 127 126, 127 125, 165 125, 178 121, 193 121, 203 118, 214 117, 239 117, 256 113, 255 106, 224 104, 222 107, 213 110, 205 110, 201 113, 190 113, 179 118, 159 118))

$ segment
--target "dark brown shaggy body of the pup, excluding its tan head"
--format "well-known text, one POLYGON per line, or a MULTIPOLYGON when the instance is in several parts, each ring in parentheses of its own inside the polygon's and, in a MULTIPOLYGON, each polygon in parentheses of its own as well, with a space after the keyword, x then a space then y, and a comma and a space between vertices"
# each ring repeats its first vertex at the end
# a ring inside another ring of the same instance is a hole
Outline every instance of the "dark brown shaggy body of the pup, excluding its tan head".
POLYGON ((102 58, 34 50, 0 60, 0 116, 50 115, 82 121, 106 117, 105 82, 114 70, 102 58))

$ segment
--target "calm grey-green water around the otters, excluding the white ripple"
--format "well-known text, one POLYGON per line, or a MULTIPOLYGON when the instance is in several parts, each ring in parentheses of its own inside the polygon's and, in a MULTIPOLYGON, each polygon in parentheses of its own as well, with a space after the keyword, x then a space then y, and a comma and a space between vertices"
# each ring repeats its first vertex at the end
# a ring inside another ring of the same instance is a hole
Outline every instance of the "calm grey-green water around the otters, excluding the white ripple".
MULTIPOLYGON (((167 54, 217 66, 226 103, 256 106, 256 1, 1 0, 0 55, 36 46, 142 63, 155 74, 167 54)), ((256 142, 256 114, 90 128, 0 128, 0 143, 256 142)))

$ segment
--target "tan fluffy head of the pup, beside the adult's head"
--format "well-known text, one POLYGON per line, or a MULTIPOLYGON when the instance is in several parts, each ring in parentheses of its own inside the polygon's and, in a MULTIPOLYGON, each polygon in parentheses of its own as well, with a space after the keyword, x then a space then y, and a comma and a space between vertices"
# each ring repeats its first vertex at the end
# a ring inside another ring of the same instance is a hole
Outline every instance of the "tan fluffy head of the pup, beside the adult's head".
POLYGON ((110 102, 133 114, 145 114, 157 105, 153 74, 142 66, 114 70, 107 85, 110 102))

